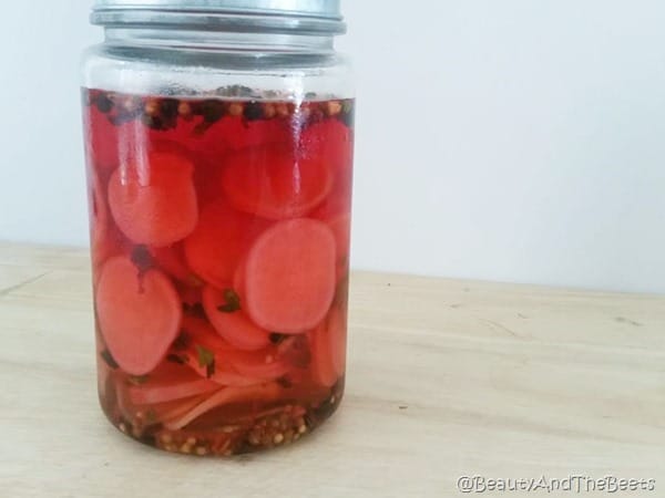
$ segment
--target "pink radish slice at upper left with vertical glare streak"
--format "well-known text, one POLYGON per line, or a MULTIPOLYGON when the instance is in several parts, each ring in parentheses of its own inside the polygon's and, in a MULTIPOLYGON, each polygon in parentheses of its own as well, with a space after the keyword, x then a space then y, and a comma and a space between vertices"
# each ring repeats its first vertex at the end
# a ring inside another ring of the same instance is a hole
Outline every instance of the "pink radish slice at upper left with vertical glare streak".
POLYGON ((123 234, 135 243, 164 247, 194 231, 193 168, 185 156, 163 152, 117 168, 109 181, 109 204, 123 234))

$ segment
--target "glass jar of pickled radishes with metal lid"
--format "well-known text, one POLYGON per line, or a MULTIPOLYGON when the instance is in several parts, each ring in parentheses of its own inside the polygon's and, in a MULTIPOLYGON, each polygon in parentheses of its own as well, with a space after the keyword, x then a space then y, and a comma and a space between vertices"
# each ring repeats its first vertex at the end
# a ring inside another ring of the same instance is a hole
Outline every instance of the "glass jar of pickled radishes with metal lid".
POLYGON ((345 382, 354 91, 336 0, 98 0, 83 62, 101 405, 158 448, 298 440, 345 382))

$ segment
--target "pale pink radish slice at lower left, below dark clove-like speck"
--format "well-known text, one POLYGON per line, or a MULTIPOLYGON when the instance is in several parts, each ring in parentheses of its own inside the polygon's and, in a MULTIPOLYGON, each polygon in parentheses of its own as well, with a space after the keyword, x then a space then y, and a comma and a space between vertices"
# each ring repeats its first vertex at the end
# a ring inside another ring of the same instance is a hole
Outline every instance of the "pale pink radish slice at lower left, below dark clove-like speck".
POLYGON ((110 259, 96 289, 96 311, 104 341, 123 371, 150 373, 180 331, 181 301, 158 270, 140 273, 129 258, 110 259))

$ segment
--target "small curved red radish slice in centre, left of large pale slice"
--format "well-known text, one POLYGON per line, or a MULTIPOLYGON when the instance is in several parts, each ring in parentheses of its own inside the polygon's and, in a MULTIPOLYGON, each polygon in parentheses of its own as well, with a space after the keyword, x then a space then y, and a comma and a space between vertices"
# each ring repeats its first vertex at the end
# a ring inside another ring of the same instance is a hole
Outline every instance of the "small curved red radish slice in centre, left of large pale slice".
POLYGON ((262 350, 270 344, 269 332, 252 323, 242 310, 221 311, 219 308, 225 305, 228 303, 223 291, 211 286, 203 290, 205 312, 217 333, 229 344, 245 351, 262 350))

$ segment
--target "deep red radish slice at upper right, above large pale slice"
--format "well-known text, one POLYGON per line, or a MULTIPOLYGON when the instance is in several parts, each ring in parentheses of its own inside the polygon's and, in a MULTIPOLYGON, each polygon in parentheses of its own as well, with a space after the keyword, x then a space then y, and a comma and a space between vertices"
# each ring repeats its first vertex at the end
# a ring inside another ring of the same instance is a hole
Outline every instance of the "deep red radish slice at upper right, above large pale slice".
POLYGON ((248 148, 228 157, 223 187, 233 206, 279 220, 307 215, 332 189, 325 160, 300 158, 283 146, 248 148))

